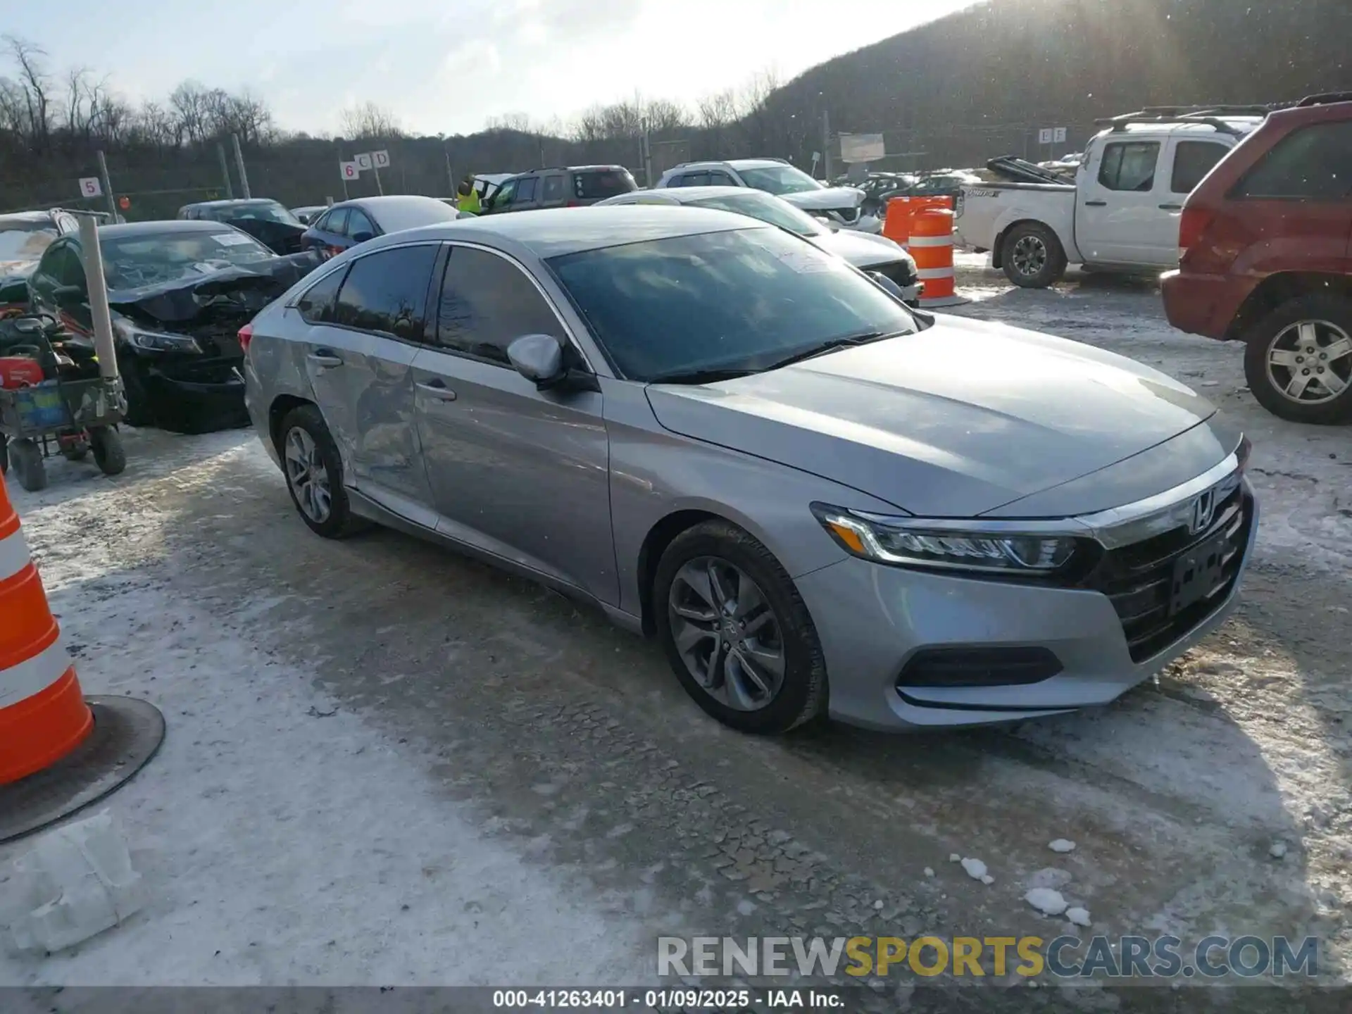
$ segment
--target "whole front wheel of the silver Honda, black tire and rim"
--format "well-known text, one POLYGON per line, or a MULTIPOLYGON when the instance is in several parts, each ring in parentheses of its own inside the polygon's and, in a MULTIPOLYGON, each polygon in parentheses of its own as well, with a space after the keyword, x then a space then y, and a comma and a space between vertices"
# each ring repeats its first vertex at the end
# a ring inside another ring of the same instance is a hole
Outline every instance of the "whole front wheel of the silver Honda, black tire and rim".
POLYGON ((657 637, 685 692, 744 733, 773 735, 826 710, 826 660, 792 579, 723 521, 687 529, 653 581, 657 637))

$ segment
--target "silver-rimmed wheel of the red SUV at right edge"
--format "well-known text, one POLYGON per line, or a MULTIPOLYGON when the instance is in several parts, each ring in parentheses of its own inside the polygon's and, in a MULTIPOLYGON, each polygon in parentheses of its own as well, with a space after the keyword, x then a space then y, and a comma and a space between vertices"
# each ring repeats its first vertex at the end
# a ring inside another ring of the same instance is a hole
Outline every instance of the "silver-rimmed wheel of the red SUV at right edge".
POLYGON ((1352 422, 1352 299, 1299 296, 1259 320, 1245 341, 1244 376, 1272 415, 1352 422))

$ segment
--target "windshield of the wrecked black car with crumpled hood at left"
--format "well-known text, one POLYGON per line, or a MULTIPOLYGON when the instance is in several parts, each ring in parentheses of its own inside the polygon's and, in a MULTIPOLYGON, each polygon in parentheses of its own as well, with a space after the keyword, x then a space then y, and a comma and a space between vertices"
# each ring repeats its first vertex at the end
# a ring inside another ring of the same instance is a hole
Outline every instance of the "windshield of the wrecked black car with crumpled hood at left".
POLYGON ((104 239, 103 269, 108 288, 160 285, 196 274, 211 274, 270 261, 272 250, 235 230, 219 233, 155 233, 104 239))

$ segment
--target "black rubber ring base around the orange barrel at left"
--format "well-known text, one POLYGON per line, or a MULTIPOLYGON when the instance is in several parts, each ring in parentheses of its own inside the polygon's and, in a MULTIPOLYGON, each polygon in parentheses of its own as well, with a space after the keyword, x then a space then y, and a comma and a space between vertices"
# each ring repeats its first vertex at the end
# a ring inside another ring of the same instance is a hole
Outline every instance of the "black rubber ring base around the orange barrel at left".
POLYGON ((160 708, 131 698, 87 698, 93 730, 73 753, 0 786, 0 844, 97 803, 141 771, 165 738, 160 708))

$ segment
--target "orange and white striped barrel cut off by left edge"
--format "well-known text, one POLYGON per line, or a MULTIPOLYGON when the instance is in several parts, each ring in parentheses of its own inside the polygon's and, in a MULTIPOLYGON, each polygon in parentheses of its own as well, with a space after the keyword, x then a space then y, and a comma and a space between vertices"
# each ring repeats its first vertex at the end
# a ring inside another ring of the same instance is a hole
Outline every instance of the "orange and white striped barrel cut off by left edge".
POLYGON ((55 764, 91 729, 93 714, 0 479, 0 786, 55 764))

